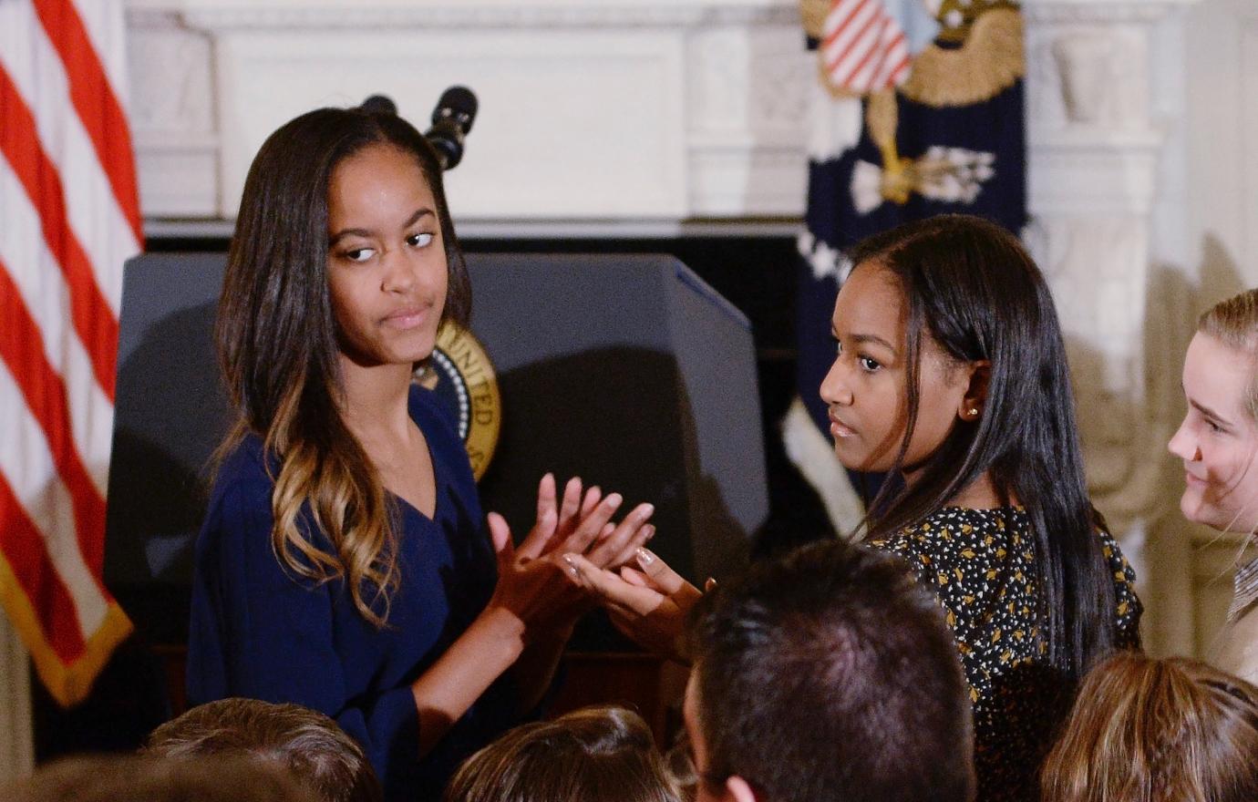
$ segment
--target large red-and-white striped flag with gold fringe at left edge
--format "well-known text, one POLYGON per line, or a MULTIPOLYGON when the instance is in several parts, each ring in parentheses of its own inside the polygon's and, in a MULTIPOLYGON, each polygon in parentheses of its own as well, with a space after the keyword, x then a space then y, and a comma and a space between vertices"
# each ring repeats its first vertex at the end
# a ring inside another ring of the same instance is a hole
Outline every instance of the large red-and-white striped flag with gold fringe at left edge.
POLYGON ((0 601, 64 705, 131 623, 102 582, 123 261, 122 0, 0 0, 0 601))

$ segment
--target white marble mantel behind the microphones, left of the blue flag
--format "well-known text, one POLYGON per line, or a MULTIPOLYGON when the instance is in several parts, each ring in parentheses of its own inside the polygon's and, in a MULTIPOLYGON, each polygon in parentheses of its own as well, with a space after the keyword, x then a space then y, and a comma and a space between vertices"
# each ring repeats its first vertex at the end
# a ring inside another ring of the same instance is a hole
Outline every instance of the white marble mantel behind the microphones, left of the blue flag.
POLYGON ((772 0, 143 0, 130 5, 150 217, 229 219, 248 162, 321 104, 481 114, 460 220, 795 216, 810 60, 772 0))

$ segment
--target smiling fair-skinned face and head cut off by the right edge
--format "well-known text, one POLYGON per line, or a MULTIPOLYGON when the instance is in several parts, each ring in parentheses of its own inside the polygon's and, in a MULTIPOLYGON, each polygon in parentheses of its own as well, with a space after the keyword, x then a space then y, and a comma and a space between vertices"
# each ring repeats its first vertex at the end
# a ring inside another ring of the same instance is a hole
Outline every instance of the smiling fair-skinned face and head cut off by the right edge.
POLYGON ((1184 357, 1188 412, 1170 450, 1184 460, 1180 509, 1229 532, 1258 529, 1258 289, 1201 316, 1184 357))

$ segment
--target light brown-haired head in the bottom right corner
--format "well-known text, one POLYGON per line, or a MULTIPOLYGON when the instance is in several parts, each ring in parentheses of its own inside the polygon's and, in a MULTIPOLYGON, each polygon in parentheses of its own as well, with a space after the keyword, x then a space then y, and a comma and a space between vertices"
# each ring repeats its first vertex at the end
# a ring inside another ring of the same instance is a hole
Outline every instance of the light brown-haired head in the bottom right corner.
POLYGON ((1040 787, 1054 802, 1258 799, 1258 688, 1120 652, 1084 679, 1040 787))

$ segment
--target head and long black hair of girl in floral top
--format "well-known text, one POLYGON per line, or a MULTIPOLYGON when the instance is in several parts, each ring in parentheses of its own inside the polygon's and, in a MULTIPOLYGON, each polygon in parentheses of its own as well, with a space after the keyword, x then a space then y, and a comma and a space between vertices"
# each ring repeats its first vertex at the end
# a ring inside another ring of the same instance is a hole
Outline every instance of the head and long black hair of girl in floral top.
POLYGON ((920 523, 990 481, 1027 509, 1049 661, 1077 676, 1113 637, 1113 577, 1088 499, 1066 346, 1048 284, 1018 239, 965 215, 858 244, 821 383, 835 453, 899 470, 871 534, 920 523))

